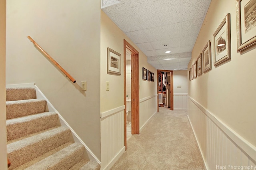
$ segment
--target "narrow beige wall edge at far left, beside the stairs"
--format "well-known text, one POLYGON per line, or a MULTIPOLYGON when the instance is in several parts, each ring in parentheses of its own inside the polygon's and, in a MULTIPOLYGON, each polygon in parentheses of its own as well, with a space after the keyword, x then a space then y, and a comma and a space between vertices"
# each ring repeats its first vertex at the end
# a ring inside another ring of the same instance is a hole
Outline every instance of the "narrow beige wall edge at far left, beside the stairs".
POLYGON ((7 170, 6 154, 6 90, 5 90, 5 32, 6 0, 0 0, 0 169, 7 170))

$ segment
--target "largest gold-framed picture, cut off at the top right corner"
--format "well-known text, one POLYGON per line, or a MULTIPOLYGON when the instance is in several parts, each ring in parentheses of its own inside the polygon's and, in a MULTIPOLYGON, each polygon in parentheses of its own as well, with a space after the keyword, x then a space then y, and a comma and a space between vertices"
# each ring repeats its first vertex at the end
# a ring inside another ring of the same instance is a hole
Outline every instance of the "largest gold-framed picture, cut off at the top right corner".
POLYGON ((236 0, 237 52, 256 44, 256 0, 236 0))

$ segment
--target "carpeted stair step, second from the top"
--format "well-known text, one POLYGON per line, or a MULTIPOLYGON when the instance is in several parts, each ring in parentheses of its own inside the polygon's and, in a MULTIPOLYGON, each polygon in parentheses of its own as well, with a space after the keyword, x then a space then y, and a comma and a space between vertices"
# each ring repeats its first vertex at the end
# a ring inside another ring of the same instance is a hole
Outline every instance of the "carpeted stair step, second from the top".
POLYGON ((43 113, 45 108, 46 100, 44 99, 6 101, 6 119, 43 113))

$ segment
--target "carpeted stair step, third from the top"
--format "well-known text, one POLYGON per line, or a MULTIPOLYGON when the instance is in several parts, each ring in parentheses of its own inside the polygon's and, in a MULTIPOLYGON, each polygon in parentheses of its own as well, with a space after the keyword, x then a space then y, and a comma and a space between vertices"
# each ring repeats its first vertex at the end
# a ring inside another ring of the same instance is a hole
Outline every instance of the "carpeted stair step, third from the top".
POLYGON ((7 141, 55 127, 57 120, 58 114, 52 112, 9 119, 6 121, 7 141))

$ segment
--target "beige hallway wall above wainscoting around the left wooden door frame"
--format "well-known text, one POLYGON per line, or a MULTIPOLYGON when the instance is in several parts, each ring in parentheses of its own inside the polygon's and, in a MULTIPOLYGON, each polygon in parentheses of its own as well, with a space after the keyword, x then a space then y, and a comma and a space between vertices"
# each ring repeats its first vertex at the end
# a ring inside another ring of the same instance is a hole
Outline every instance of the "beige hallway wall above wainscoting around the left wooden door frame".
POLYGON ((101 74, 100 74, 100 111, 124 105, 124 39, 139 51, 139 79, 140 99, 156 94, 156 80, 148 82, 142 80, 142 67, 152 71, 156 76, 156 69, 147 62, 147 57, 138 47, 122 32, 112 20, 102 11, 101 17, 101 74), (107 74, 107 48, 117 51, 122 55, 121 75, 107 74), (110 90, 106 91, 106 81, 109 81, 110 90))

